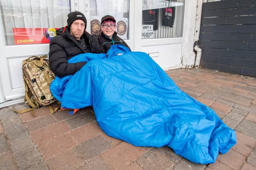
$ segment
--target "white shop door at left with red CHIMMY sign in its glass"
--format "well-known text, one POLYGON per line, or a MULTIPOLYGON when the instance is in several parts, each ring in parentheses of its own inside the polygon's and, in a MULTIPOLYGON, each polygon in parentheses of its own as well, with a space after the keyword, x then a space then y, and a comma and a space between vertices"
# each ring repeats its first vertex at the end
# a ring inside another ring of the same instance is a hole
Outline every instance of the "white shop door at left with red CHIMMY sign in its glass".
POLYGON ((0 107, 23 101, 22 60, 49 52, 49 30, 66 25, 69 0, 0 1, 0 107))

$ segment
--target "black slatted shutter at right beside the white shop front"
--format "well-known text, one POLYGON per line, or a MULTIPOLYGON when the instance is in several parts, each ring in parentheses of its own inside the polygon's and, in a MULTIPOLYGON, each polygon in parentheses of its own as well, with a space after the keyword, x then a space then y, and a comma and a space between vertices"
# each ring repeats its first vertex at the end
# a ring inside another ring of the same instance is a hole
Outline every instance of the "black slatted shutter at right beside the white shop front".
POLYGON ((256 0, 203 3, 200 67, 256 77, 256 0))

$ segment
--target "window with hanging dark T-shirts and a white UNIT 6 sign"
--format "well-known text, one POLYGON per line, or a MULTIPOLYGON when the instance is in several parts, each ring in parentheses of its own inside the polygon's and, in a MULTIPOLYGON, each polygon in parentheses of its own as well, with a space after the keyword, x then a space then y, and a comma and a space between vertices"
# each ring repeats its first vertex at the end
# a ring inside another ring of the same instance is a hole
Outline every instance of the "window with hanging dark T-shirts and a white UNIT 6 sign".
POLYGON ((182 37, 185 0, 143 0, 142 39, 182 37))

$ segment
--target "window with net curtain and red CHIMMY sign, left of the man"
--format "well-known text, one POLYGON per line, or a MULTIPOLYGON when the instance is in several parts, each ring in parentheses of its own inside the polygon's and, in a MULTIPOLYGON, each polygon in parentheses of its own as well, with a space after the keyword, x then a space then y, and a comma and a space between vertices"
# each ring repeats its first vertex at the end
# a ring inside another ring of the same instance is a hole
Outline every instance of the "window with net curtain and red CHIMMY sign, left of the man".
POLYGON ((69 0, 1 0, 6 45, 49 43, 66 25, 69 0))

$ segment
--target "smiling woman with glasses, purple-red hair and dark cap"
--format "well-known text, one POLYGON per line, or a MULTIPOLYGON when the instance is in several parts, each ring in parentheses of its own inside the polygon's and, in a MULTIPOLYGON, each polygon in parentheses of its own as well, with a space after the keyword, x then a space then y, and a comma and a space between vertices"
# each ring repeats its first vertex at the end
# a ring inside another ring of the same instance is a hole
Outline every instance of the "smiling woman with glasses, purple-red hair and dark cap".
POLYGON ((116 20, 113 16, 102 17, 100 29, 102 33, 98 36, 92 36, 90 39, 92 53, 107 53, 111 45, 114 44, 121 44, 130 49, 124 40, 117 36, 116 20))

